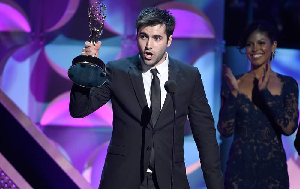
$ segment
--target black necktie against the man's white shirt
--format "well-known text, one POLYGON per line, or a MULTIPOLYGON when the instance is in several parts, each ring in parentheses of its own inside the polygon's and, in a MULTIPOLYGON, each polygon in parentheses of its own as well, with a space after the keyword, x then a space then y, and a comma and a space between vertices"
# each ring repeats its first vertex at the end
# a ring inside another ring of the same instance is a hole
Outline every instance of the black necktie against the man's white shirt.
POLYGON ((159 78, 157 76, 158 70, 153 68, 151 70, 153 75, 153 79, 151 82, 151 120, 153 123, 153 127, 157 122, 158 116, 161 113, 161 84, 159 82, 159 78))

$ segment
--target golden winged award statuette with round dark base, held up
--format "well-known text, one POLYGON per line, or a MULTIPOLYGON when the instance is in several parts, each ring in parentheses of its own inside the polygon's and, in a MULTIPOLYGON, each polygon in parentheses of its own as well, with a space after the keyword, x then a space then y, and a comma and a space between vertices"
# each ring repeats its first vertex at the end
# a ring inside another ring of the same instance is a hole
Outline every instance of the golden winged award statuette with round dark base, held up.
MULTIPOLYGON (((95 45, 97 37, 101 38, 107 9, 104 4, 95 2, 88 7, 89 26, 91 30, 90 43, 95 45), (97 27, 102 20, 100 27, 97 27), (92 23, 95 22, 95 23, 92 23), (93 25, 93 26, 92 26, 93 25)), ((68 76, 75 84, 93 88, 103 85, 106 81, 106 65, 102 60, 91 55, 80 55, 73 59, 68 69, 68 76)))

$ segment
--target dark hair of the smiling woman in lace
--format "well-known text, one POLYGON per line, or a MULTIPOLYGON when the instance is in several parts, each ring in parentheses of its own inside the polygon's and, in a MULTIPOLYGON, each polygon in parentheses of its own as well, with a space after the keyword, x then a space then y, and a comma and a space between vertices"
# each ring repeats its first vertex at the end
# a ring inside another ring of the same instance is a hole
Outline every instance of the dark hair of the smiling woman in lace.
POLYGON ((270 39, 271 44, 276 41, 276 30, 274 29, 272 24, 266 20, 257 20, 250 23, 244 30, 238 42, 238 49, 240 50, 240 52, 243 48, 245 48, 248 37, 256 30, 258 30, 259 32, 265 32, 270 39))

